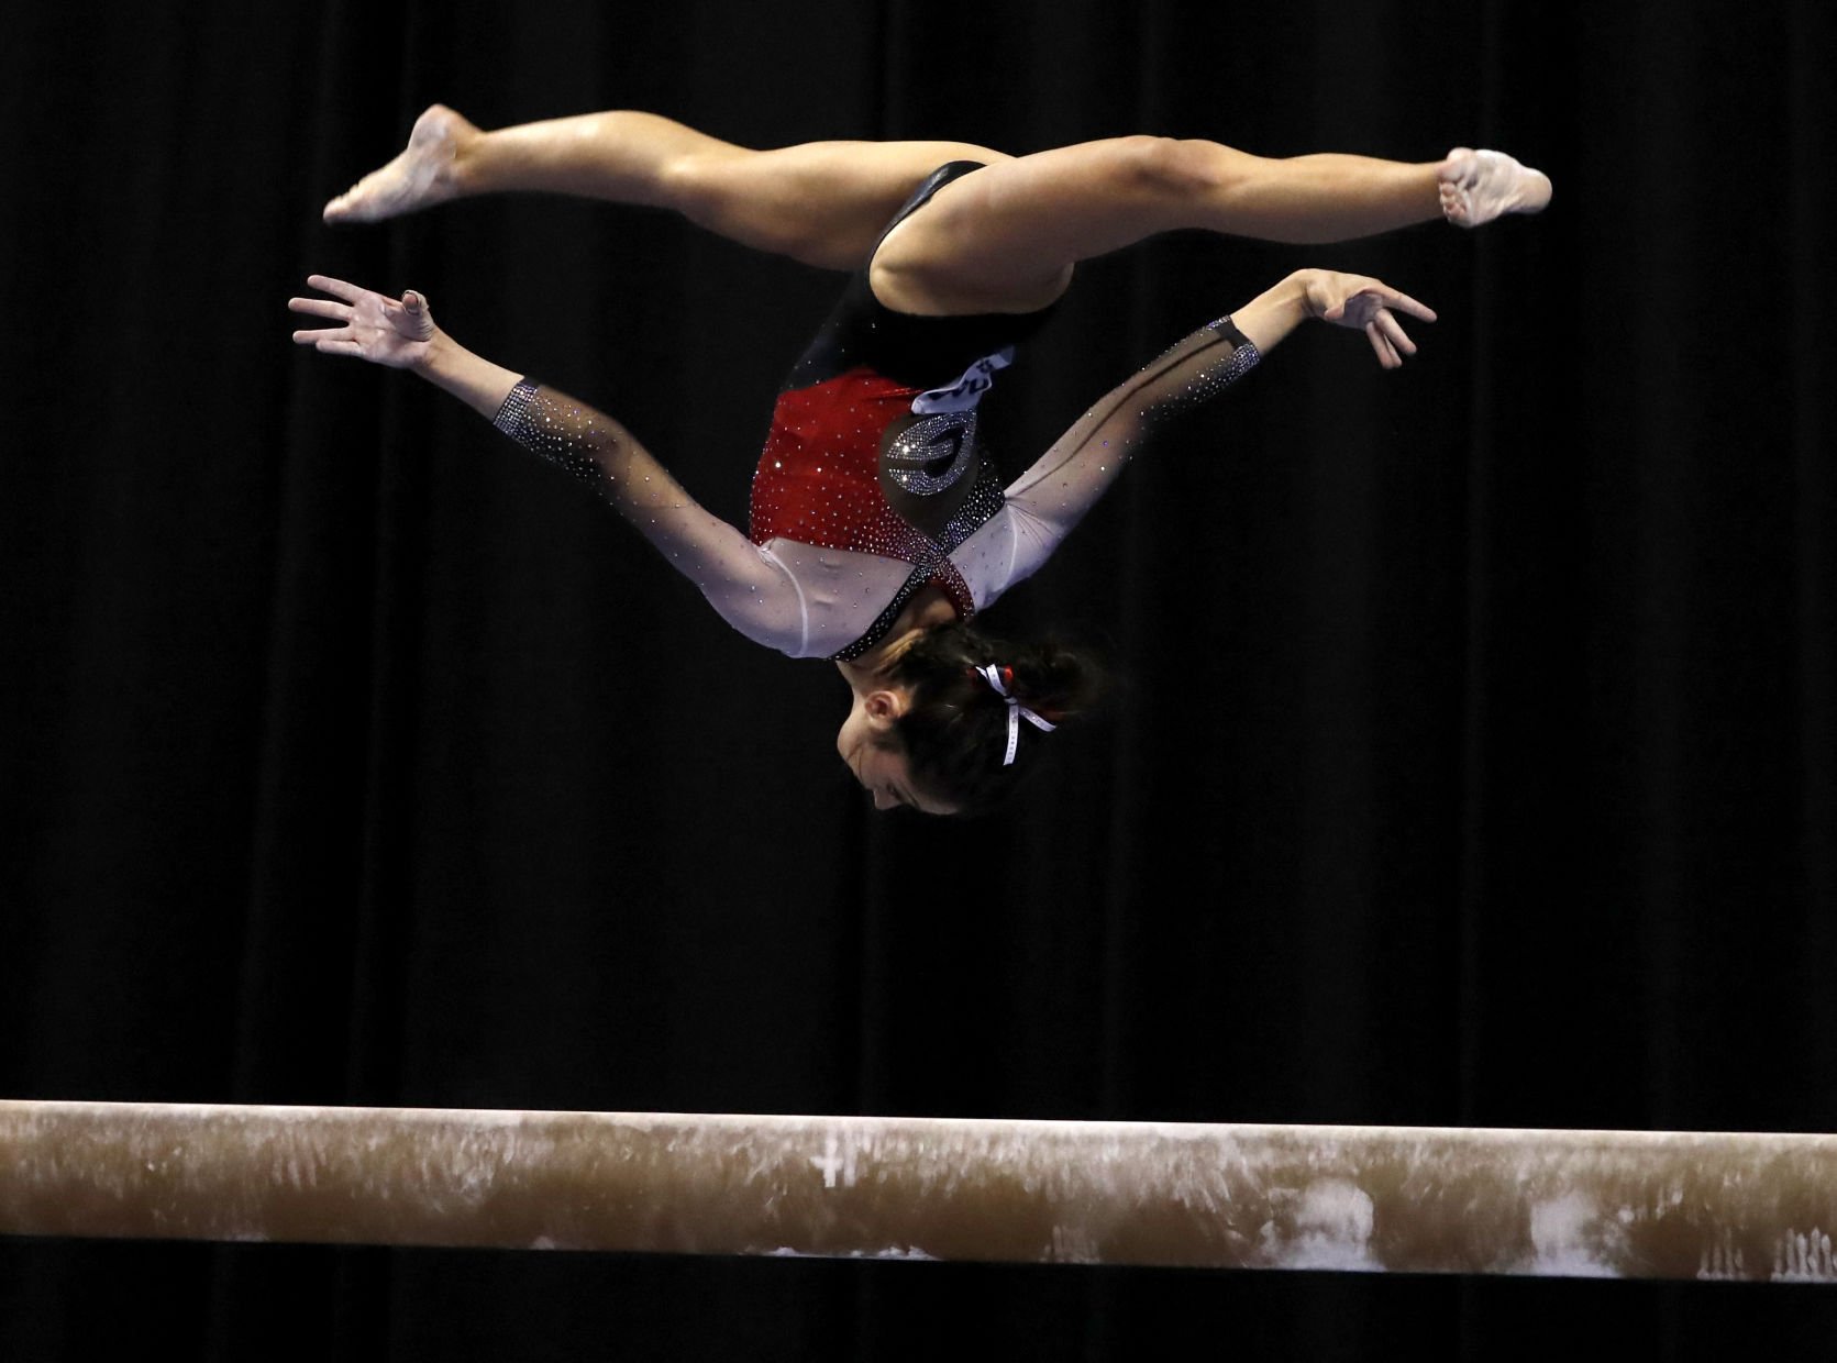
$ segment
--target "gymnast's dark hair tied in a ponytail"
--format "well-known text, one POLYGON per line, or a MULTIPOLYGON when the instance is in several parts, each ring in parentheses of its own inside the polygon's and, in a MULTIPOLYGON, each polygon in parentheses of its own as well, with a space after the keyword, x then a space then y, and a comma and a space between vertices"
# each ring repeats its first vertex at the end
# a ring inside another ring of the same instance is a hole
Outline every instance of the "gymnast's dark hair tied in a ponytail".
POLYGON ((983 814, 1031 772, 1058 735, 1021 722, 1014 762, 1009 749, 1009 704, 979 669, 1001 667, 1003 685, 1051 724, 1089 713, 1102 691, 1097 661, 1058 639, 1009 645, 974 625, 955 621, 926 630, 887 665, 884 676, 911 693, 893 726, 893 746, 906 753, 913 784, 963 814, 983 814))

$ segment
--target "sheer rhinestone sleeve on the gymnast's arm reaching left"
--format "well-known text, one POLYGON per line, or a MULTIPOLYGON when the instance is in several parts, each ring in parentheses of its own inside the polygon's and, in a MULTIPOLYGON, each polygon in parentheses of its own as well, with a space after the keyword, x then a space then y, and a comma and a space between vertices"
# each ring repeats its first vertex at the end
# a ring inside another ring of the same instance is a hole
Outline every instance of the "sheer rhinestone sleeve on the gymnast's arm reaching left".
POLYGON ((617 421, 527 378, 492 424, 588 483, 746 637, 805 652, 806 612, 790 573, 738 529, 705 511, 617 421))

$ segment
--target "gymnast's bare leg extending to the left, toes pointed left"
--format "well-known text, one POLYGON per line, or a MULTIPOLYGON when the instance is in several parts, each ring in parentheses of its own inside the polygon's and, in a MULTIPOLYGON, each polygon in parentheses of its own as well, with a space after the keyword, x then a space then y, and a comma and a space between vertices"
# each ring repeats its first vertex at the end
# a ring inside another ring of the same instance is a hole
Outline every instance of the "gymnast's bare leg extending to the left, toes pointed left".
POLYGON ((1010 158, 963 141, 751 151, 636 110, 487 132, 435 105, 395 160, 325 206, 325 220, 375 222, 450 198, 535 189, 676 209, 742 244, 856 270, 906 197, 952 160, 1010 158))

